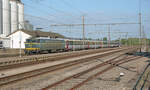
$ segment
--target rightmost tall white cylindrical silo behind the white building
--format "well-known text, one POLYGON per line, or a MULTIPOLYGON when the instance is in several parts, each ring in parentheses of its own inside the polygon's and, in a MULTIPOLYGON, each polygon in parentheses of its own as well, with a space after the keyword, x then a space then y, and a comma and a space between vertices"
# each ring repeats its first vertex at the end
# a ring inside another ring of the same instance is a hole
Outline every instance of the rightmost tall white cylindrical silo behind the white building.
POLYGON ((18 21, 19 29, 24 29, 24 4, 21 1, 18 2, 18 21))

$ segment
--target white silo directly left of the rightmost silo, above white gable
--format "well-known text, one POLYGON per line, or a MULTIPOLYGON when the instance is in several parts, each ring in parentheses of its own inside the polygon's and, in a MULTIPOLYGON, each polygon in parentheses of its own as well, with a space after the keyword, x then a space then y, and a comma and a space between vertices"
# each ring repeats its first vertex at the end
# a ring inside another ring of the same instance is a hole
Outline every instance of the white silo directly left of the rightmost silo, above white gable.
POLYGON ((17 0, 10 0, 11 7, 11 33, 18 30, 18 5, 17 0))

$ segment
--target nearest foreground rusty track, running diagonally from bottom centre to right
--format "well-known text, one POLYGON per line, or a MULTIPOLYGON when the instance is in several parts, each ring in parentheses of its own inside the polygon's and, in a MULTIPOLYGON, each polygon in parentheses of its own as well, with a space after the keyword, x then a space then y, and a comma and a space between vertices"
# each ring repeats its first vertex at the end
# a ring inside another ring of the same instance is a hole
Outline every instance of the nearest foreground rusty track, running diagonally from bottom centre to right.
POLYGON ((77 88, 80 88, 81 86, 83 86, 88 81, 96 78, 97 76, 103 74, 106 71, 111 70, 115 66, 121 65, 123 63, 129 62, 129 61, 132 61, 132 60, 136 60, 136 59, 138 59, 140 57, 139 56, 137 56, 137 57, 125 57, 125 58, 122 58, 122 59, 119 59, 119 60, 116 60, 116 58, 118 58, 118 57, 115 57, 115 58, 113 58, 113 59, 111 59, 109 61, 106 61, 106 62, 103 62, 101 64, 98 64, 95 67, 92 67, 92 68, 90 68, 90 69, 88 69, 86 71, 82 71, 82 72, 77 73, 75 75, 72 75, 72 76, 69 76, 67 78, 64 78, 63 80, 55 82, 55 83, 53 83, 53 84, 43 88, 42 90, 48 90, 48 89, 56 89, 56 90, 58 89, 59 90, 61 88, 61 86, 62 86, 61 84, 63 84, 63 86, 65 86, 65 84, 67 84, 67 81, 69 83, 76 81, 76 83, 71 83, 71 85, 66 85, 66 86, 69 86, 69 87, 67 87, 65 89, 63 88, 63 89, 64 90, 76 90, 77 88), (103 67, 103 66, 106 66, 106 65, 109 65, 109 66, 106 67, 105 69, 99 70, 100 67, 103 67), (90 72, 95 71, 95 70, 96 70, 95 74, 90 73, 90 72), (75 85, 73 85, 73 84, 75 84, 75 85), (59 85, 60 85, 60 88, 58 88, 59 85))

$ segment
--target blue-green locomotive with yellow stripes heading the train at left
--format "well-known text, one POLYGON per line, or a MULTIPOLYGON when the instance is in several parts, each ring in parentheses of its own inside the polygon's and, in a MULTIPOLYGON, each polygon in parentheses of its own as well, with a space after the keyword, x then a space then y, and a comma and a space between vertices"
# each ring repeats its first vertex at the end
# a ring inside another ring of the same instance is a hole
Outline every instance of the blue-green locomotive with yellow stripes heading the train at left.
POLYGON ((32 38, 25 42, 25 54, 65 50, 65 41, 50 38, 32 38))

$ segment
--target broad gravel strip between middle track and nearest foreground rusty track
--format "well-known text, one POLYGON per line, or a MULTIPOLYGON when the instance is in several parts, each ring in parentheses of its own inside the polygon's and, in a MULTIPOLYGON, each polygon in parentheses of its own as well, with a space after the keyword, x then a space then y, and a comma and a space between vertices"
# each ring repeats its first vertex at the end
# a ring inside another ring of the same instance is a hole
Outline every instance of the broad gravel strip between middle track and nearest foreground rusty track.
MULTIPOLYGON (((116 55, 117 54, 113 54, 101 59, 107 61, 110 58, 116 57, 116 55)), ((91 62, 85 64, 74 66, 65 70, 60 70, 54 73, 49 73, 43 76, 35 77, 26 81, 21 81, 14 85, 4 87, 2 88, 2 90, 39 90, 40 88, 45 87, 50 83, 56 82, 58 80, 62 80, 65 77, 87 70, 88 68, 93 67, 99 63, 102 62, 99 60, 91 60, 91 62)))

